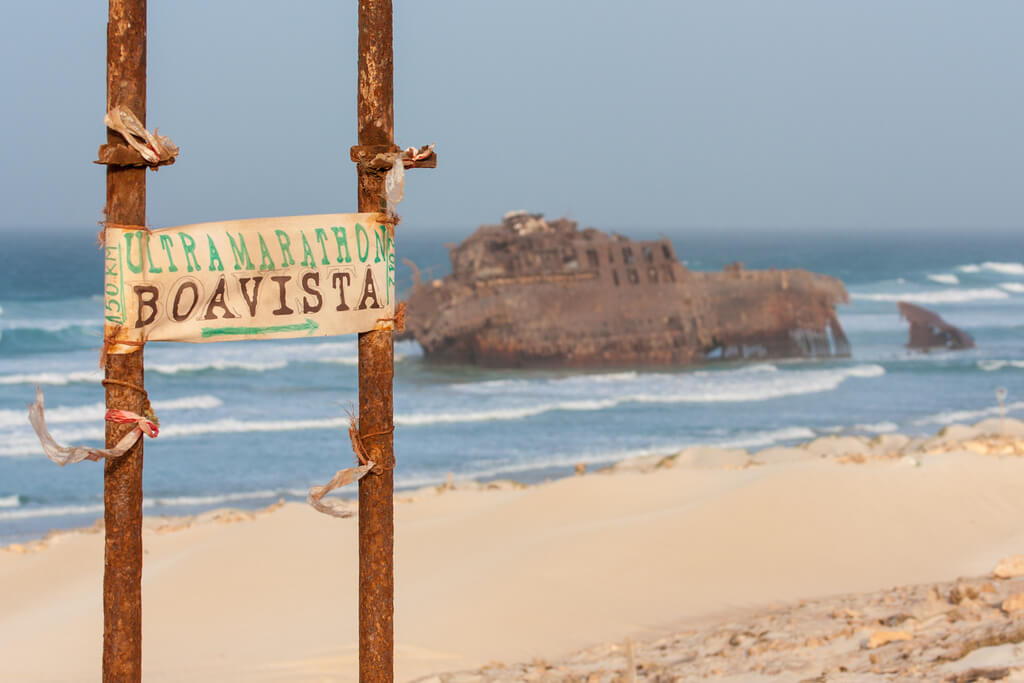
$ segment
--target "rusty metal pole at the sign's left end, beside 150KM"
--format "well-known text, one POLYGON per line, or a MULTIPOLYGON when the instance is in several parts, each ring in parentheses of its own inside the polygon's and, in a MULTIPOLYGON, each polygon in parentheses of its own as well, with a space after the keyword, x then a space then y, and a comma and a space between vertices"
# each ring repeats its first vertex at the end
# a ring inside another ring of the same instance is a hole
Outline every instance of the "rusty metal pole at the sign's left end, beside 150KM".
MULTIPOLYGON (((146 0, 110 0, 106 111, 130 109, 145 124, 146 0)), ((110 130, 106 142, 120 142, 110 130)), ((106 220, 145 225, 145 168, 106 167, 106 220)), ((106 379, 141 387, 142 349, 106 356, 106 379)), ((142 414, 142 395, 106 385, 106 408, 142 414)), ((106 447, 134 425, 106 423, 106 447)), ((142 680, 142 439, 103 465, 103 681, 142 680)))

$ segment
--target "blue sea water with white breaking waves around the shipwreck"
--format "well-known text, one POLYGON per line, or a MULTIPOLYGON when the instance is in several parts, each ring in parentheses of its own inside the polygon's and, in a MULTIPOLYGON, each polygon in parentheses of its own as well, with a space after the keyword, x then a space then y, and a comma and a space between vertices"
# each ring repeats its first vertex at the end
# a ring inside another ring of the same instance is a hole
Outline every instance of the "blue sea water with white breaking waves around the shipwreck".
MULTIPOLYGON (((631 230, 631 237, 654 237, 631 230)), ((466 232, 402 225, 398 255, 433 276, 445 242, 466 232)), ((849 359, 605 371, 496 371, 424 362, 396 344, 399 487, 461 477, 540 480, 687 444, 757 451, 831 433, 933 433, 997 414, 994 389, 1024 417, 1024 241, 1013 233, 670 233, 696 270, 732 261, 842 279, 849 359), (896 300, 932 308, 977 348, 911 353, 896 300)), ((60 468, 42 455, 26 404, 35 387, 62 442, 100 445, 103 391, 99 252, 88 229, 2 236, 0 544, 91 523, 102 466, 60 468)), ((399 290, 410 285, 399 271, 399 290)), ((146 440, 145 510, 301 500, 352 462, 354 337, 216 344, 154 343, 146 386, 162 420, 146 440)))

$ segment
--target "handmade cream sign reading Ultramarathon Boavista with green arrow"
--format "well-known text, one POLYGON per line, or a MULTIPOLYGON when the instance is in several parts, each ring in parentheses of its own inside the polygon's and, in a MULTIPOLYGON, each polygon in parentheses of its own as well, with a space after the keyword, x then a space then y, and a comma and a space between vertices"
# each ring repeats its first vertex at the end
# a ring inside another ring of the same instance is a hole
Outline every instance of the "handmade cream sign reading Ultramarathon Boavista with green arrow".
POLYGON ((108 352, 129 353, 145 341, 388 329, 395 307, 394 227, 382 218, 325 214, 159 230, 108 224, 108 352))

